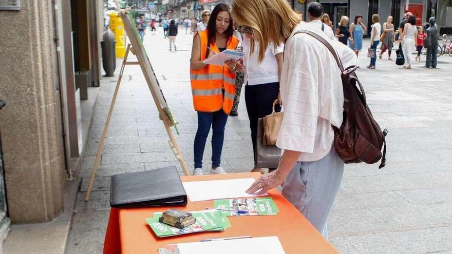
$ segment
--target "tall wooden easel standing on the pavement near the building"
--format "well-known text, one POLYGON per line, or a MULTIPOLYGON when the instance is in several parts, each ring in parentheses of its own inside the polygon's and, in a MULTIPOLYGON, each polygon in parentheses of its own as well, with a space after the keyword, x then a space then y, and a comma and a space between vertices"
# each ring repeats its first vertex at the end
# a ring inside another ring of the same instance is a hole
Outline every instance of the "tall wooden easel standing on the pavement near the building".
MULTIPOLYGON (((150 93, 152 94, 156 107, 159 111, 160 120, 163 121, 166 132, 168 133, 168 137, 170 138, 170 141, 168 141, 170 143, 170 147, 172 148, 174 154, 176 155, 176 158, 179 161, 179 163, 182 167, 182 170, 184 171, 184 174, 190 175, 189 169, 185 163, 185 160, 182 157, 182 153, 179 149, 176 139, 174 138, 173 131, 171 130, 171 126, 174 126, 175 123, 174 123, 174 121, 170 120, 170 118, 168 117, 168 112, 165 112, 165 110, 162 107, 162 103, 166 104, 163 94, 161 93, 161 91, 156 91, 156 87, 154 86, 156 83, 158 84, 154 70, 150 66, 149 62, 147 62, 147 63, 145 62, 145 61, 149 61, 149 60, 147 59, 147 56, 145 56, 144 47, 141 44, 141 41, 139 41, 140 39, 138 38, 136 32, 134 32, 134 29, 131 27, 130 21, 127 18, 126 10, 120 9, 117 1, 115 1, 115 3, 117 4, 118 10, 120 10, 119 15, 121 16, 121 18, 124 22, 124 28, 126 30, 127 36, 130 39, 131 44, 127 45, 124 60, 122 62, 121 70, 119 72, 118 81, 116 82, 115 93, 113 94, 113 98, 112 98, 112 101, 110 104, 110 109, 108 110, 107 122, 105 123, 104 131, 102 132, 102 138, 101 138, 101 142, 99 144, 99 148, 97 151, 96 161, 94 163, 94 167, 91 172, 91 177, 89 179, 88 190, 86 191, 86 196, 85 196, 86 202, 89 201, 89 195, 91 193, 92 184, 94 182, 94 178, 96 177, 96 173, 97 173, 97 170, 99 167, 102 150, 104 148, 105 137, 106 137, 106 134, 108 131, 108 126, 110 125, 111 115, 113 113, 113 108, 115 107, 116 97, 117 97, 118 91, 119 91, 119 85, 121 84, 122 75, 124 73, 124 68, 126 65, 140 65, 141 70, 143 71, 143 75, 146 79, 147 85, 149 87, 150 93), (136 50, 138 50, 138 52, 136 52, 136 50), (138 62, 127 62, 127 56, 128 56, 129 52, 132 52, 134 55, 137 56, 138 62), (139 54, 137 54, 137 53, 139 53, 139 54), (158 96, 157 92, 161 93, 160 97, 158 96)), ((158 85, 158 88, 159 88, 159 85, 158 85)))

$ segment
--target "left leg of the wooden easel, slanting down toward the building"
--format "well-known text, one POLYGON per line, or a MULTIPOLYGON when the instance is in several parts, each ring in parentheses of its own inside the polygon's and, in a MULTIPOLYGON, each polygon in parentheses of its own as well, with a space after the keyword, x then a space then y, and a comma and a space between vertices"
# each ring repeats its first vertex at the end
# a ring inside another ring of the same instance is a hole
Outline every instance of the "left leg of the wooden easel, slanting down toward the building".
POLYGON ((97 150, 96 161, 94 162, 94 167, 92 168, 91 178, 89 179, 88 190, 86 191, 85 201, 89 201, 89 195, 91 193, 92 184, 94 182, 94 178, 96 177, 97 169, 99 167, 99 162, 102 155, 102 150, 104 149, 105 136, 107 135, 108 126, 110 125, 111 115, 113 113, 113 108, 115 107, 116 97, 118 96, 119 85, 121 84, 122 74, 124 73, 124 68, 126 66, 127 55, 130 50, 130 44, 127 46, 125 51, 124 60, 122 62, 121 70, 119 72, 118 81, 116 82, 115 93, 113 94, 113 98, 111 99, 110 109, 108 110, 107 122, 104 126, 104 131, 102 132, 101 142, 99 143, 99 148, 97 150))

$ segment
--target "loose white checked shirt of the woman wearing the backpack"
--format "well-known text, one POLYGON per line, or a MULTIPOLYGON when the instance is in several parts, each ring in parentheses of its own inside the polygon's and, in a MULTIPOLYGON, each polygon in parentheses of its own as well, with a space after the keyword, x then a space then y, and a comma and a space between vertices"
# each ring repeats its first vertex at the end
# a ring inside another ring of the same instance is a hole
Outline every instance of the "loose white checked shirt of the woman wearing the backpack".
MULTIPOLYGON (((300 23, 292 32, 310 30, 327 39, 317 24, 300 23)), ((329 41, 344 68, 357 65, 354 52, 329 41)), ((286 41, 280 82, 284 118, 276 146, 300 151, 298 161, 318 161, 331 150, 334 131, 342 125, 344 93, 340 70, 331 52, 309 34, 286 41)))

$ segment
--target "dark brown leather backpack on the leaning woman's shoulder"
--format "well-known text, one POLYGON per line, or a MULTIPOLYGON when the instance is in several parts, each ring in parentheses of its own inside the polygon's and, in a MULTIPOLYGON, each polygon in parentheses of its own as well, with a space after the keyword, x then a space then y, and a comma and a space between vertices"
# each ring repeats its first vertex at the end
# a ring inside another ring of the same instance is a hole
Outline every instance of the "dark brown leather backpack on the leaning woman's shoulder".
POLYGON ((357 66, 344 69, 342 62, 333 47, 318 34, 303 30, 297 33, 307 33, 322 42, 333 54, 337 66, 341 70, 344 89, 344 120, 341 128, 334 129, 334 148, 344 163, 374 164, 381 159, 379 168, 386 165, 386 141, 388 131, 381 130, 373 119, 366 103, 366 94, 355 70, 357 66), (384 146, 384 148, 383 148, 384 146), (383 148, 383 154, 381 149, 383 148))

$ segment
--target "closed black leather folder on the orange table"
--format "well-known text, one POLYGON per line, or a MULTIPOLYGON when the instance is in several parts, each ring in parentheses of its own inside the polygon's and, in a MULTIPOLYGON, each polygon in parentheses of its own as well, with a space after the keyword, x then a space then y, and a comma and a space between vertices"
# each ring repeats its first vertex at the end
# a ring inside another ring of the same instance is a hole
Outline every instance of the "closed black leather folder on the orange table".
POLYGON ((175 166, 111 177, 111 207, 186 205, 187 193, 175 166))

